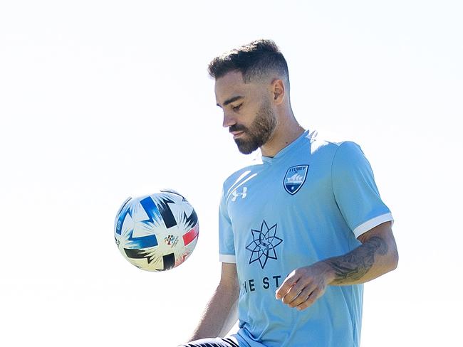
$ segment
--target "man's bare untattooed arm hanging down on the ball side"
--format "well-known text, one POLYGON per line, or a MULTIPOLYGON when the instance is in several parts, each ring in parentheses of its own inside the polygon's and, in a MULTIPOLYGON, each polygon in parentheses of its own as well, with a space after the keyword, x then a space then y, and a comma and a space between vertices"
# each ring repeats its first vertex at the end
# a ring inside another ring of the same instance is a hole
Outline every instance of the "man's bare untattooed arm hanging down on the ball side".
POLYGON ((219 286, 207 304, 190 341, 224 336, 236 322, 238 297, 236 264, 224 262, 219 286))

